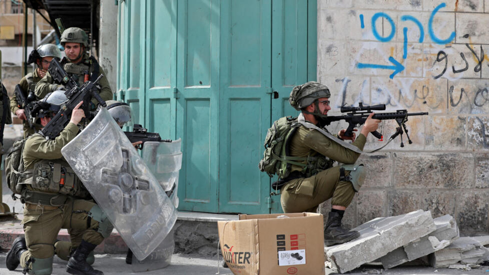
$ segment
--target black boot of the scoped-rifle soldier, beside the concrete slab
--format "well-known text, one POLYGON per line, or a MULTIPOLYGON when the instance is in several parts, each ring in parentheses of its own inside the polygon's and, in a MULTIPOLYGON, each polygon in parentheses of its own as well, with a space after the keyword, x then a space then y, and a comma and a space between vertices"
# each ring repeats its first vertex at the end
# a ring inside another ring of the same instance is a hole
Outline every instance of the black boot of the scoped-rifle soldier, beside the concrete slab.
POLYGON ((324 244, 332 246, 335 244, 345 243, 360 236, 358 231, 350 231, 341 225, 341 215, 337 212, 330 212, 328 222, 324 229, 324 244))

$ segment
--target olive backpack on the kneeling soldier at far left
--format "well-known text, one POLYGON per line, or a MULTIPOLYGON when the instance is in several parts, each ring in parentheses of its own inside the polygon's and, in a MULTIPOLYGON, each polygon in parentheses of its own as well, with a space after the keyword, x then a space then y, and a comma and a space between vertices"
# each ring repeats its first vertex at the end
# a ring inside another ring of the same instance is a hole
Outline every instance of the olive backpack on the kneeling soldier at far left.
POLYGON ((14 142, 12 148, 8 151, 7 157, 5 157, 5 178, 7 180, 7 186, 10 190, 12 190, 12 197, 15 197, 15 194, 20 195, 22 191, 22 186, 18 186, 19 179, 21 177, 25 177, 22 173, 24 170, 24 161, 22 158, 22 151, 24 149, 25 140, 18 140, 14 142))

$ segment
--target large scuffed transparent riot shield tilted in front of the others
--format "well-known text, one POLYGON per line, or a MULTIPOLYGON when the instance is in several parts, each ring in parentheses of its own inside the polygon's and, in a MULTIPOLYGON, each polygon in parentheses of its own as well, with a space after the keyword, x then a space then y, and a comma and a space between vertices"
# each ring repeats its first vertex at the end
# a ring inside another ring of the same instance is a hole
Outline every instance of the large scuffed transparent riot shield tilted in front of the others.
POLYGON ((177 220, 172 201, 106 108, 61 153, 138 259, 177 220))

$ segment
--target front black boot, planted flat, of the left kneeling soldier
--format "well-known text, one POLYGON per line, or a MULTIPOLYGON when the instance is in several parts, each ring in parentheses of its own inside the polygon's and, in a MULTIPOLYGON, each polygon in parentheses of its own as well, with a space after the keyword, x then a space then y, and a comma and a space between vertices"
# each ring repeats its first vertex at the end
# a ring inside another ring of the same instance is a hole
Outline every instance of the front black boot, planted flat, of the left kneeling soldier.
POLYGON ((87 263, 87 257, 97 245, 82 240, 73 255, 69 257, 66 271, 75 275, 104 275, 100 270, 93 269, 87 263))

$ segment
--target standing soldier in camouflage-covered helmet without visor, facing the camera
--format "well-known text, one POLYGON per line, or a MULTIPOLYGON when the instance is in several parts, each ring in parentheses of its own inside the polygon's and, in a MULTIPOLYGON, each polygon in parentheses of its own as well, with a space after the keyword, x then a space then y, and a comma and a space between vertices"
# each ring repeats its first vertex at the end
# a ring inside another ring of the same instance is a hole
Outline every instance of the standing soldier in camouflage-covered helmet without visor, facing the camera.
MULTIPOLYGON (((104 100, 112 99, 112 90, 109 80, 102 67, 94 57, 91 57, 85 51, 88 49, 88 36, 84 30, 76 27, 67 28, 61 35, 61 44, 65 47, 67 58, 61 60, 61 65, 69 76, 82 85, 86 80, 95 81, 101 74, 104 75, 99 81, 100 97, 104 100)), ((49 72, 43 79, 36 84, 35 93, 38 98, 44 98, 47 93, 64 89, 60 83, 54 83, 54 79, 49 72)), ((94 107, 97 100, 92 100, 94 107)))

